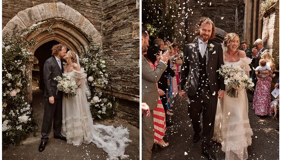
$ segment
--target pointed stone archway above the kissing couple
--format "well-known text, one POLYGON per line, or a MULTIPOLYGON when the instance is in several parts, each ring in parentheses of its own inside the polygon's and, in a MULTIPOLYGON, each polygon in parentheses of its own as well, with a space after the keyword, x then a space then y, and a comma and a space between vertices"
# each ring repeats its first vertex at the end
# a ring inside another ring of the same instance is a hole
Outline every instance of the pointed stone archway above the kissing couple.
MULTIPOLYGON (((38 45, 34 46, 30 52, 34 53, 38 47, 48 41, 57 41, 63 43, 69 49, 74 50, 76 53, 82 50, 86 51, 90 41, 87 37, 91 33, 95 43, 101 43, 102 37, 95 29, 95 26, 81 13, 75 9, 65 5, 62 2, 58 3, 42 3, 31 8, 27 8, 17 13, 3 28, 2 37, 7 32, 11 32, 15 25, 20 29, 31 28, 36 25, 41 27, 49 27, 53 29, 53 34, 50 35, 48 31, 36 31, 36 34, 25 35, 25 39, 34 38, 38 45)), ((28 68, 31 70, 32 61, 28 68)), ((32 72, 30 72, 30 79, 32 72)), ((32 81, 30 81, 30 95, 28 95, 28 102, 32 101, 32 81)))

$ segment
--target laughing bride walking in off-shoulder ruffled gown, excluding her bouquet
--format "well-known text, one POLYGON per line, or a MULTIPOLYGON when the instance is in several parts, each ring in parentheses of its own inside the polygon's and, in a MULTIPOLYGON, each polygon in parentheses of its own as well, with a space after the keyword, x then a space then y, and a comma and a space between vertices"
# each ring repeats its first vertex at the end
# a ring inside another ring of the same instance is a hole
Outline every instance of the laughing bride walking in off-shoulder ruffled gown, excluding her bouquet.
MULTIPOLYGON (((229 33, 224 39, 223 59, 225 65, 240 66, 249 76, 251 59, 244 51, 237 50, 239 37, 229 33)), ((227 88, 227 86, 226 86, 227 88)), ((248 98, 245 89, 238 90, 237 98, 224 95, 218 100, 213 140, 221 143, 226 160, 248 158, 247 147, 251 145, 253 131, 248 117, 248 98)))

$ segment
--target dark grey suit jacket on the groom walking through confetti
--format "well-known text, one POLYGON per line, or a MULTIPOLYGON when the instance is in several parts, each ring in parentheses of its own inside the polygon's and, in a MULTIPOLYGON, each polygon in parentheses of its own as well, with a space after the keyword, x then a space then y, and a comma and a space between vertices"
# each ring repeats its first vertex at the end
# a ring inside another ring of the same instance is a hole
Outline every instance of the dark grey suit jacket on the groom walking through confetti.
MULTIPOLYGON (((216 93, 214 96, 218 95, 219 90, 225 90, 224 79, 219 77, 218 70, 223 63, 223 49, 220 43, 208 40, 208 45, 213 44, 214 47, 212 51, 209 51, 208 47, 206 49, 206 71, 209 81, 209 86, 212 93, 216 93)), ((181 68, 181 75, 179 81, 179 90, 186 91, 187 95, 195 95, 198 89, 199 83, 199 47, 198 47, 198 37, 195 40, 186 45, 184 49, 184 60, 181 68)))

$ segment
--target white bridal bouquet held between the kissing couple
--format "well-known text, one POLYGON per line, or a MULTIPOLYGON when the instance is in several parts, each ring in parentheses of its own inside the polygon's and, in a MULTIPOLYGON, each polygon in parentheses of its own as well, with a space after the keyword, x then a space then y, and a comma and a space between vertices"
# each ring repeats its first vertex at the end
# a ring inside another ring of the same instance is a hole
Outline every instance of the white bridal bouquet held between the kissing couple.
POLYGON ((78 84, 73 78, 63 74, 63 77, 58 75, 56 78, 54 78, 54 80, 58 81, 58 84, 56 85, 56 94, 58 94, 58 91, 63 91, 65 93, 65 98, 68 99, 76 95, 78 84))

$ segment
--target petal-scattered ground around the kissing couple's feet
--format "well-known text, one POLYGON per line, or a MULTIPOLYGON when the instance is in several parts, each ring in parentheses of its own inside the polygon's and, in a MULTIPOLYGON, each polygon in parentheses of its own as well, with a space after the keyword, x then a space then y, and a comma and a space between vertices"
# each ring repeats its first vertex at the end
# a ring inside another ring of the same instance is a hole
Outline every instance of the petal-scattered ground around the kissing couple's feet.
MULTIPOLYGON (((60 139, 54 139, 53 132, 49 136, 49 141, 43 152, 38 151, 39 144, 41 142, 41 126, 44 113, 44 97, 42 91, 33 90, 33 105, 32 109, 35 113, 35 119, 38 122, 38 132, 35 135, 30 134, 29 138, 22 142, 22 145, 9 146, 7 149, 2 149, 2 159, 3 160, 94 160, 94 159, 106 159, 108 155, 102 148, 97 148, 96 145, 90 143, 89 145, 79 145, 74 146, 71 144, 66 144, 66 141, 60 139)), ((115 118, 114 120, 100 120, 94 123, 100 123, 104 125, 123 125, 130 130, 130 139, 132 142, 128 143, 126 147, 125 154, 129 155, 130 159, 137 160, 140 159, 139 155, 139 129, 128 124, 128 122, 115 118)))

